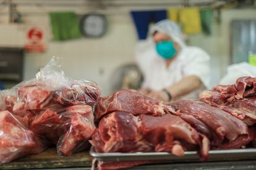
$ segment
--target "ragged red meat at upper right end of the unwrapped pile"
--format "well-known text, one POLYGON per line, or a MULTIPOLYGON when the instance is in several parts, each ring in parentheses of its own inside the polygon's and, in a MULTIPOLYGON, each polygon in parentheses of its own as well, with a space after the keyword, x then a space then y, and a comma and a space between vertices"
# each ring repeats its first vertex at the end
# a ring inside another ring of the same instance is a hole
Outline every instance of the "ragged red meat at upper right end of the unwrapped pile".
POLYGON ((236 90, 233 92, 217 86, 213 88, 215 91, 203 91, 200 94, 200 100, 231 113, 231 115, 242 119, 247 125, 251 126, 256 123, 256 97, 248 96, 255 95, 254 81, 254 78, 239 78, 236 84, 225 86, 234 87, 236 90), (228 95, 229 98, 226 98, 228 95))

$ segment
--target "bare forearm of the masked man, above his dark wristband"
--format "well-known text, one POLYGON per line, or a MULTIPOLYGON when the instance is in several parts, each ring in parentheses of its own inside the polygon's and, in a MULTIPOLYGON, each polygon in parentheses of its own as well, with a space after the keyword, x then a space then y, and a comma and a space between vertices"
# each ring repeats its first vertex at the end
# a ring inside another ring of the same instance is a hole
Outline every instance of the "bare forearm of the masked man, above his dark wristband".
POLYGON ((182 78, 181 81, 172 84, 166 89, 169 91, 172 98, 175 99, 198 89, 201 84, 202 82, 197 76, 186 76, 182 78))

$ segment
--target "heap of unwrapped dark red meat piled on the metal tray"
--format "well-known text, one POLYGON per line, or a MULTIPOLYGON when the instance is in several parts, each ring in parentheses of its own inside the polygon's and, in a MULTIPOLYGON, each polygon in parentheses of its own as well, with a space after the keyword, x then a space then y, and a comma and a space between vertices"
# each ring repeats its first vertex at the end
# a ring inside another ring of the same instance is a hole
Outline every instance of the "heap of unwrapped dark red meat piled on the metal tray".
MULTIPOLYGON (((95 108, 98 124, 90 143, 96 152, 169 152, 177 156, 197 150, 253 147, 256 123, 256 78, 216 86, 200 100, 161 103, 134 90, 101 98, 95 108)), ((134 164, 100 162, 103 169, 134 164)))

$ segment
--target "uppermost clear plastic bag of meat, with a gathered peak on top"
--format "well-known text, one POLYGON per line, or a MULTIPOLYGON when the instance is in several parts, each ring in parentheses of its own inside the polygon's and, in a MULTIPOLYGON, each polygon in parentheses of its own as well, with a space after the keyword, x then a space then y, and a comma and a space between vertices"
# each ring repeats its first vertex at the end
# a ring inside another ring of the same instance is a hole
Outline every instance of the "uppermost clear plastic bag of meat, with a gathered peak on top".
MULTIPOLYGON (((41 68, 36 78, 15 86, 17 102, 13 105, 14 113, 24 110, 54 109, 70 105, 94 106, 100 97, 100 88, 93 82, 67 78, 55 57, 41 68)), ((13 93, 13 92, 12 92, 13 93)), ((12 98, 7 95, 6 99, 12 98)))

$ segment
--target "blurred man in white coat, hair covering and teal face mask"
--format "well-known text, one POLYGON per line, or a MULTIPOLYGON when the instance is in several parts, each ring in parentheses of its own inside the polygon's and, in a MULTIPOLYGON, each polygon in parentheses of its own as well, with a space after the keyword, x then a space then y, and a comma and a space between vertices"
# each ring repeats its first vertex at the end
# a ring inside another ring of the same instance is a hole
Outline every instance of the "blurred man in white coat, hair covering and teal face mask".
POLYGON ((156 23, 151 38, 153 46, 136 55, 144 78, 140 92, 164 102, 197 99, 210 82, 209 55, 186 46, 179 26, 169 20, 156 23))

